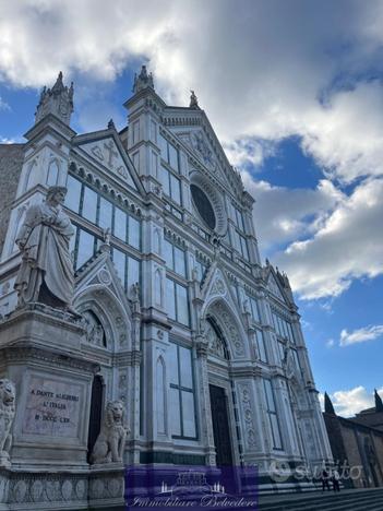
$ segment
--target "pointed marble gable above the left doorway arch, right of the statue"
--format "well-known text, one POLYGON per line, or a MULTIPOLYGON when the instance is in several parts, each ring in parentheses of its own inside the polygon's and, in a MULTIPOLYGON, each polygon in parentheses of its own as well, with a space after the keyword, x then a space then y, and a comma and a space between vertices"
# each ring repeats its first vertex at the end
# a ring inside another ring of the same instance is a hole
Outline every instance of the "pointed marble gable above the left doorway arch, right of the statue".
POLYGON ((75 296, 91 285, 108 287, 124 308, 131 309, 125 290, 108 251, 99 251, 79 270, 75 277, 75 296))

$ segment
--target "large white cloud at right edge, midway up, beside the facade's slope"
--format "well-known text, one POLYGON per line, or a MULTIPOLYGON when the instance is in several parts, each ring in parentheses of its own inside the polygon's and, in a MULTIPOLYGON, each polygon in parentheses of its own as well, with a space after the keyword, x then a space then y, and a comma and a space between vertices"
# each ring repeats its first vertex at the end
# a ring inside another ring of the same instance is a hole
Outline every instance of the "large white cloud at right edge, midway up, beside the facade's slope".
POLYGON ((313 237, 275 255, 302 298, 338 296, 352 278, 383 273, 383 179, 371 179, 344 198, 313 237))

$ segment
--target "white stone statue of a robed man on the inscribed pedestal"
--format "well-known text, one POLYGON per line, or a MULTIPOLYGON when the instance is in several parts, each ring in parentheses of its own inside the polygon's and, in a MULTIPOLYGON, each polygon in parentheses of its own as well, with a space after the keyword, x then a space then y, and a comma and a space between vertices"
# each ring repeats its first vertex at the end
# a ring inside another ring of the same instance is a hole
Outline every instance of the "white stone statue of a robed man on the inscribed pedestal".
POLYGON ((71 309, 74 276, 69 241, 74 228, 61 209, 65 193, 67 188, 49 188, 46 201, 27 210, 17 233, 23 257, 14 288, 20 307, 38 301, 71 309))

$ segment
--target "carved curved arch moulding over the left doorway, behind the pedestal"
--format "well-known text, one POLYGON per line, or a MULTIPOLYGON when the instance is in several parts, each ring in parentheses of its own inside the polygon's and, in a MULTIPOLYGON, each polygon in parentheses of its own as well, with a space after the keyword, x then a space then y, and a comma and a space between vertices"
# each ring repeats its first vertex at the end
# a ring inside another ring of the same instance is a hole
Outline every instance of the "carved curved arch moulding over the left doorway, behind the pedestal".
MULTIPOLYGON (((106 348, 110 352, 132 349, 132 322, 116 295, 103 285, 91 285, 74 296, 74 309, 94 314, 105 333, 106 348)), ((85 323, 85 322, 84 322, 85 323)), ((84 324, 86 330, 86 324, 84 324)))

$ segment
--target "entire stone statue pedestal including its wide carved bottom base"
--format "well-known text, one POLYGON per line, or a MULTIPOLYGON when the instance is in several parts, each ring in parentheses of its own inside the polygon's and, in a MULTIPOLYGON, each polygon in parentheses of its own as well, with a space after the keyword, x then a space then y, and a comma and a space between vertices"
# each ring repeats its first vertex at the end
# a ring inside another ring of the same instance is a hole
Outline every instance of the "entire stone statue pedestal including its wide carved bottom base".
POLYGON ((81 350, 83 333, 75 314, 41 305, 0 323, 0 376, 16 388, 11 464, 0 460, 0 511, 123 504, 123 467, 87 463, 98 366, 81 350))

